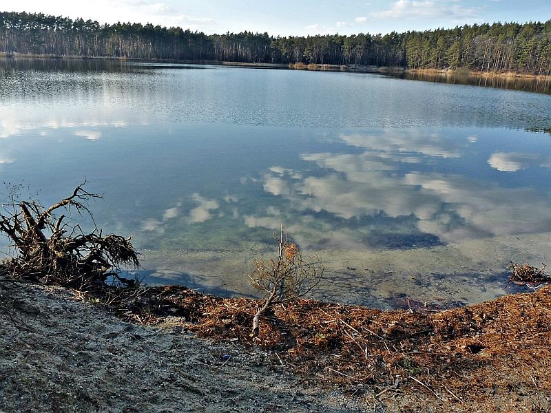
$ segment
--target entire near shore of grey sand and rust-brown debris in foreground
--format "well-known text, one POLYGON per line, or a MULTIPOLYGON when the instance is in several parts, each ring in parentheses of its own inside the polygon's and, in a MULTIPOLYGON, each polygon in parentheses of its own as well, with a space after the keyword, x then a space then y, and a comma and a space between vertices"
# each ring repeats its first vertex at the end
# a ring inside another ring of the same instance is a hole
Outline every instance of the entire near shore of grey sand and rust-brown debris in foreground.
POLYGON ((551 286, 436 313, 303 299, 275 308, 254 341, 256 300, 181 286, 110 298, 105 306, 94 295, 0 278, 0 409, 551 407, 551 286))

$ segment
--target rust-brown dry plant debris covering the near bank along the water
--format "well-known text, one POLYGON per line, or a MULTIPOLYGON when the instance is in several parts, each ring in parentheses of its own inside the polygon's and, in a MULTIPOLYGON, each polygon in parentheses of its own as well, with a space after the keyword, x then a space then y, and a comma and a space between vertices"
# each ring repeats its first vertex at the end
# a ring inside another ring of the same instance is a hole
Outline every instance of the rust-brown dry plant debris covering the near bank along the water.
MULTIPOLYGON (((551 287, 439 313, 382 311, 299 299, 273 308, 251 338, 261 303, 181 286, 111 300, 124 319, 271 350, 280 363, 358 395, 411 388, 448 403, 488 392, 551 396, 551 287)), ((544 403, 545 404, 545 403, 544 403)))

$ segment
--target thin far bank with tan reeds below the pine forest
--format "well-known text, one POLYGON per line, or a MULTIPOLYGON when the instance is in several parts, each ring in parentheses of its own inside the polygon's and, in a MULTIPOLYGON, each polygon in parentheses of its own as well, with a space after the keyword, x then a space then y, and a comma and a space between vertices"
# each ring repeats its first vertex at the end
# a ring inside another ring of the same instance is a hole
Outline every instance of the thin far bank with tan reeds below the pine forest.
POLYGON ((188 60, 171 60, 171 59, 134 59, 126 57, 110 57, 110 56, 55 56, 45 54, 6 54, 1 52, 0 58, 8 59, 63 59, 63 60, 105 60, 105 61, 127 61, 127 62, 143 62, 143 63, 173 63, 173 64, 194 64, 194 65, 222 65, 229 67, 249 67, 260 69, 280 69, 280 70, 312 70, 321 72, 355 72, 355 73, 371 73, 371 74, 390 74, 395 76, 403 76, 410 74, 418 74, 422 76, 462 76, 462 77, 479 77, 479 78, 504 78, 514 79, 522 78, 526 80, 534 79, 539 81, 551 81, 551 76, 547 75, 535 75, 525 74, 517 72, 495 72, 495 71, 475 71, 469 70, 466 67, 459 67, 457 69, 436 69, 436 68, 422 68, 422 69, 408 69, 406 67, 393 67, 393 66, 375 66, 375 65, 326 65, 326 64, 304 64, 304 63, 290 63, 276 64, 276 63, 250 63, 250 62, 231 62, 231 61, 188 61, 188 60))

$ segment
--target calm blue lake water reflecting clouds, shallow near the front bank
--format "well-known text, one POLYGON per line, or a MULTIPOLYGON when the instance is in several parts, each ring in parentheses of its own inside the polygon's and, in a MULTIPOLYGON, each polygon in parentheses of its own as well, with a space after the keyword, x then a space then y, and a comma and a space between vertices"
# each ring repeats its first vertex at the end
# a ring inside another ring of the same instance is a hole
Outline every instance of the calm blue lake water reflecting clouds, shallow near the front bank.
MULTIPOLYGON (((395 308, 514 288, 551 255, 551 96, 388 76, 0 61, 0 178, 44 204, 88 181, 140 276, 254 295, 284 222, 316 297, 395 308), (401 304, 402 303, 402 304, 401 304)), ((8 252, 6 240, 0 249, 8 252)))

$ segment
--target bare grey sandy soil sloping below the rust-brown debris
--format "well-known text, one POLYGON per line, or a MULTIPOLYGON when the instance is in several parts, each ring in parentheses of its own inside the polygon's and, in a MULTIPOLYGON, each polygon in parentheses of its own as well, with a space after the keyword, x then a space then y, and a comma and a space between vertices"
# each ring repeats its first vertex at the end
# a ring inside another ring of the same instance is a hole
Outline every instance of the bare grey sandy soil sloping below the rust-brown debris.
MULTIPOLYGON (((549 379, 533 363, 524 372, 534 385, 496 372, 500 383, 488 377, 468 403, 413 381, 352 392, 296 374, 275 352, 199 339, 166 321, 130 324, 69 290, 1 279, 0 331, 0 412, 550 411, 549 379)), ((541 331, 548 342, 549 328, 541 331)), ((543 372, 548 354, 534 354, 543 372)))

